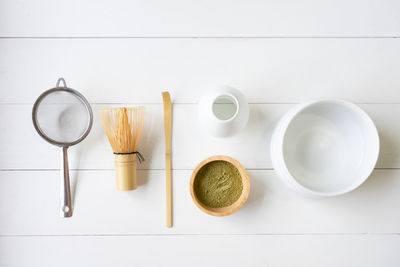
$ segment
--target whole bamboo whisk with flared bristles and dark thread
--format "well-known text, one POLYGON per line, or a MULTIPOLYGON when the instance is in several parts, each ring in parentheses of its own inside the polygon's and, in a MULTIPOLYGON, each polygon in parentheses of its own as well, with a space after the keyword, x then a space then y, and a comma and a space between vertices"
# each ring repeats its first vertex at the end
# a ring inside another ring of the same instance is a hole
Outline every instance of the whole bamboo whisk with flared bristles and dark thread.
POLYGON ((137 151, 146 110, 144 107, 111 108, 100 111, 108 141, 114 151, 117 190, 137 188, 137 160, 143 160, 137 151))

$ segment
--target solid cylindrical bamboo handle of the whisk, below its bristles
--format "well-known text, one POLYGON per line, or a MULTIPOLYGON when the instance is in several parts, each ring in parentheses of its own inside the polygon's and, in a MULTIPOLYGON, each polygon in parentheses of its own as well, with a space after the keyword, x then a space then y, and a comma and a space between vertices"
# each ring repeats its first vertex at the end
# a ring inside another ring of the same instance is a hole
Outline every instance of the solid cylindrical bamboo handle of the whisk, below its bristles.
POLYGON ((137 188, 137 156, 136 154, 114 155, 115 177, 118 191, 135 190, 137 188))

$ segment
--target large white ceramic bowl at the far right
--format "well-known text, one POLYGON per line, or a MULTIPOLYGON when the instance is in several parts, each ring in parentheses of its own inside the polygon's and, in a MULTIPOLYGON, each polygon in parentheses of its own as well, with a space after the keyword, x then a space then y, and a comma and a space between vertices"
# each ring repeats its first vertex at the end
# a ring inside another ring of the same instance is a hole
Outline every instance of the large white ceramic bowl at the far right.
POLYGON ((360 186, 379 155, 378 131, 355 104, 316 100, 295 106, 271 140, 275 170, 293 189, 334 196, 360 186))

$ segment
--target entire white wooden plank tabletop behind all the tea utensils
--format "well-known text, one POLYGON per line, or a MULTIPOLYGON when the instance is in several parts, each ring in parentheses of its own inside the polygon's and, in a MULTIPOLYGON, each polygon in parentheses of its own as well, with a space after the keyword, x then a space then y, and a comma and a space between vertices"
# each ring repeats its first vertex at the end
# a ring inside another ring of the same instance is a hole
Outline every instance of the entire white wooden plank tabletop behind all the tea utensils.
POLYGON ((1 0, 0 266, 399 266, 400 1, 1 0), (72 218, 58 217, 60 152, 31 122, 36 97, 66 78, 94 109, 70 150, 72 218), (203 90, 230 85, 251 108, 230 139, 199 132, 203 90), (173 95, 174 227, 165 227, 162 98, 173 95), (375 121, 381 155, 349 194, 306 199, 269 156, 295 103, 334 97, 375 121), (98 110, 144 104, 139 188, 115 190, 98 110), (191 170, 230 155, 252 191, 234 215, 202 213, 191 170))

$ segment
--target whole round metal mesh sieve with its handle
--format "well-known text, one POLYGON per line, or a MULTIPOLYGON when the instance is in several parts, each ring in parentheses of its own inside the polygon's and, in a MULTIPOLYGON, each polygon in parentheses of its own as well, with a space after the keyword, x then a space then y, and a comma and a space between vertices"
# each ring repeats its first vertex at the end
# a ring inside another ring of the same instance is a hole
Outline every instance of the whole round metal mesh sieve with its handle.
POLYGON ((36 100, 32 120, 41 137, 62 148, 60 214, 61 217, 71 217, 67 149, 81 142, 89 134, 93 124, 92 109, 81 93, 68 88, 65 80, 60 78, 55 88, 45 91, 36 100))

